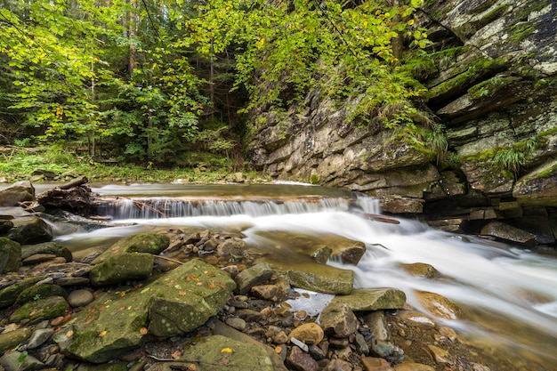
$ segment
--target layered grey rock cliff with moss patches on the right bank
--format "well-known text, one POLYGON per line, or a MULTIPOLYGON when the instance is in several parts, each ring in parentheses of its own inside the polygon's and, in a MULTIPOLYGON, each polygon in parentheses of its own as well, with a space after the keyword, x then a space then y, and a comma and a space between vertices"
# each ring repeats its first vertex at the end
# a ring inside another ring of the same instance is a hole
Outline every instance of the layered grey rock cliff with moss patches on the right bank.
POLYGON ((445 153, 434 139, 357 125, 347 118, 351 102, 339 108, 312 92, 287 113, 253 118, 253 165, 366 192, 387 213, 446 230, 480 233, 504 220, 554 245, 557 4, 429 0, 421 17, 438 52, 419 74, 445 128, 445 153))

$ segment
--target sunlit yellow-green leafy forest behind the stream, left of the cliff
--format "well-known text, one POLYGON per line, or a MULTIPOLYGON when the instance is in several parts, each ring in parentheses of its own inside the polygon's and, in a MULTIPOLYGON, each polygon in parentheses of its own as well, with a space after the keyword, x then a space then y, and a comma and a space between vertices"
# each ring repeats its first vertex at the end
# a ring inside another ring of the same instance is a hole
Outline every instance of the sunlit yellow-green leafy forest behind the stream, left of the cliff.
POLYGON ((420 0, 1 0, 0 144, 241 165, 253 112, 318 89, 412 124, 420 0))

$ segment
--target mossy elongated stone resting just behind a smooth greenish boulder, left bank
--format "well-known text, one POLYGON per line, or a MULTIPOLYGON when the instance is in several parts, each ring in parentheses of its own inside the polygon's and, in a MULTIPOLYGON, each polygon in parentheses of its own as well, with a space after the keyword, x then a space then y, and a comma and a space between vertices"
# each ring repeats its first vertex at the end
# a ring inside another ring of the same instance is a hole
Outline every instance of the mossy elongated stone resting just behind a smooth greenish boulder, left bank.
POLYGON ((170 245, 170 238, 159 233, 138 233, 122 238, 91 262, 100 264, 115 254, 146 253, 160 254, 170 245))

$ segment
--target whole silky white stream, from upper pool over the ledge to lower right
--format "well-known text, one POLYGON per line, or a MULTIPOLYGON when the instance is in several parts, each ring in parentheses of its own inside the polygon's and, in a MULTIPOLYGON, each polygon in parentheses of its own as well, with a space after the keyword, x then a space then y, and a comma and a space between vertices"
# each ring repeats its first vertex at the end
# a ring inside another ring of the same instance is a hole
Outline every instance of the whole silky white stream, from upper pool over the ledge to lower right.
POLYGON ((247 246, 288 267, 338 238, 362 241, 367 253, 355 286, 392 286, 421 309, 416 290, 441 294, 464 309, 459 320, 437 319, 469 342, 516 359, 516 369, 557 369, 557 260, 515 246, 432 230, 400 219, 378 222, 373 198, 346 190, 295 184, 132 185, 93 187, 118 196, 101 207, 122 226, 57 237, 74 252, 109 246, 139 231, 236 230, 247 246), (313 242, 311 242, 313 241, 313 242), (410 277, 400 263, 425 262, 442 279, 410 277))

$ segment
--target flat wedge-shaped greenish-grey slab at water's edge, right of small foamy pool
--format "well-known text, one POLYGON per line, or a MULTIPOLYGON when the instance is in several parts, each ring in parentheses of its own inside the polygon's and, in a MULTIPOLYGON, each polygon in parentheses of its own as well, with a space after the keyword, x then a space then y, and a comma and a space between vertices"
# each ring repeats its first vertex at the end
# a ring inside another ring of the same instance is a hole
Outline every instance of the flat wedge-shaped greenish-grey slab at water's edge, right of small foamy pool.
POLYGON ((396 288, 359 288, 348 295, 336 295, 332 302, 343 302, 352 311, 399 309, 406 302, 406 294, 396 288))

